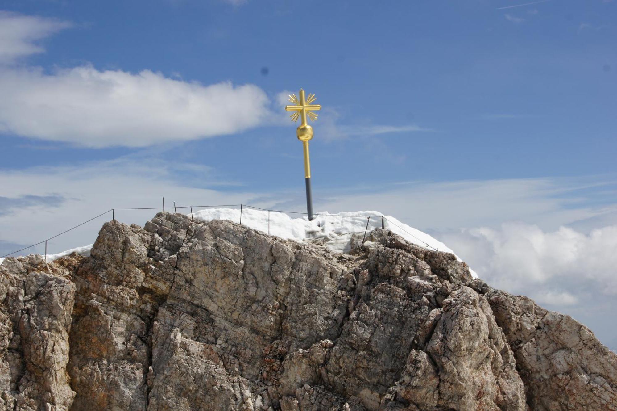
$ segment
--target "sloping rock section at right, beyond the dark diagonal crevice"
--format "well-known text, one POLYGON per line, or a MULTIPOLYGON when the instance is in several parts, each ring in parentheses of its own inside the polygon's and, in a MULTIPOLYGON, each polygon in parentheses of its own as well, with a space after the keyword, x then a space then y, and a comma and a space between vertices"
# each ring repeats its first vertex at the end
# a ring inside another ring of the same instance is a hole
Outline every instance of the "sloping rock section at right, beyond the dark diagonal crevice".
POLYGON ((569 315, 523 296, 487 293, 532 410, 617 410, 617 355, 569 315))

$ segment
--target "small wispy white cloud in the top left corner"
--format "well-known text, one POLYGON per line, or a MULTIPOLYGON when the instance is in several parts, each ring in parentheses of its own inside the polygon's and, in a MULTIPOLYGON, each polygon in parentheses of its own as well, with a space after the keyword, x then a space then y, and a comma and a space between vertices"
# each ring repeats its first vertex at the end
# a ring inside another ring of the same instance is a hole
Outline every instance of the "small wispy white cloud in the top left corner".
POLYGON ((68 22, 0 10, 0 63, 44 52, 37 41, 70 27, 68 22))

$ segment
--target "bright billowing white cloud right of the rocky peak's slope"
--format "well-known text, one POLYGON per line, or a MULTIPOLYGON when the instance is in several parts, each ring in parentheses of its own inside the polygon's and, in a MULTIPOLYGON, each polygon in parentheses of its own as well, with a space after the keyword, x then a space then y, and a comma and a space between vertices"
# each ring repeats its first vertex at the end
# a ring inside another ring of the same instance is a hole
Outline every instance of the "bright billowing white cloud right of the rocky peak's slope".
MULTIPOLYGON (((452 241, 457 241, 451 236, 452 241)), ((513 289, 520 284, 549 284, 571 280, 597 281, 607 293, 617 295, 617 226, 592 230, 585 235, 561 226, 543 231, 536 225, 505 223, 500 228, 474 228, 460 233, 462 241, 473 238, 482 251, 476 260, 495 286, 513 289)), ((459 241, 457 241, 458 243, 459 241)), ((474 265, 476 267, 476 265, 474 265)), ((562 283, 563 284, 563 283, 562 283)))

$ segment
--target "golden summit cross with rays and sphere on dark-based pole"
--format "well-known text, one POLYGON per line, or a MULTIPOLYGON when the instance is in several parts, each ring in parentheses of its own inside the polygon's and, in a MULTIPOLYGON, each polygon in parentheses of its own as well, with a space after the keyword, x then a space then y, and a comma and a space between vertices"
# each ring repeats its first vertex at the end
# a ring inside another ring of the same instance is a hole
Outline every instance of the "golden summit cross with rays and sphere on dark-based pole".
POLYGON ((313 198, 310 188, 309 140, 313 138, 313 128, 307 124, 307 117, 312 121, 317 120, 317 114, 313 113, 313 111, 321 110, 321 106, 319 104, 311 104, 315 101, 315 94, 309 94, 309 97, 305 98, 303 89, 300 89, 300 98, 297 98, 296 94, 291 94, 289 101, 294 103, 294 106, 285 106, 285 110, 294 112, 289 117, 294 122, 298 118, 301 119, 300 125, 296 129, 296 136, 302 141, 302 147, 304 148, 304 182, 307 189, 307 214, 310 221, 313 220, 313 198))

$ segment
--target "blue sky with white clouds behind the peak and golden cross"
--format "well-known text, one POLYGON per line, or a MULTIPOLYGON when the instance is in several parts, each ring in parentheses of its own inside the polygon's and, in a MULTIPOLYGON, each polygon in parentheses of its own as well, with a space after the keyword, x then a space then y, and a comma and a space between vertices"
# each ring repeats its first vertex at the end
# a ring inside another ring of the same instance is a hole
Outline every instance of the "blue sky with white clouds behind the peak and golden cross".
MULTIPOLYGON (((316 209, 395 215, 461 249, 494 284, 588 323, 617 309, 586 302, 617 288, 615 1, 1 9, 2 252, 162 196, 304 209, 301 144, 281 99, 302 87, 323 106, 316 209), (592 245, 599 254, 577 254, 568 267, 578 268, 547 268, 592 245), (520 273, 504 250, 550 275, 512 283, 520 273), (602 275, 590 276, 598 259, 602 275)), ((91 243, 98 226, 50 247, 91 243)))

